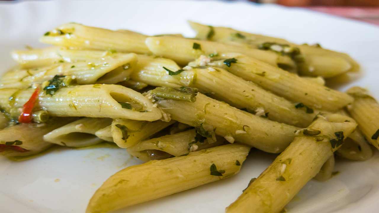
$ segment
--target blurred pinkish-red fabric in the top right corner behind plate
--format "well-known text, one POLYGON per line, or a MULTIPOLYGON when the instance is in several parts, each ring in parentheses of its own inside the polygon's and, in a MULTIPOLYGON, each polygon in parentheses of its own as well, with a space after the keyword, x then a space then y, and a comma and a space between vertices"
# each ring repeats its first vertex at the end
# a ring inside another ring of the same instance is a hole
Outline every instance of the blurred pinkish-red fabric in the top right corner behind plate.
POLYGON ((349 19, 360 20, 379 26, 379 8, 310 6, 308 9, 349 19))

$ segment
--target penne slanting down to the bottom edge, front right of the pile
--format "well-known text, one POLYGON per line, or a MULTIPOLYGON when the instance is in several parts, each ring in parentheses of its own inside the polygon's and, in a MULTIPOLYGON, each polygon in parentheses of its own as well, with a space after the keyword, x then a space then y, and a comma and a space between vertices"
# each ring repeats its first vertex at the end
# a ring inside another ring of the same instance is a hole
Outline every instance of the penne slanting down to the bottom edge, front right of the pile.
POLYGON ((252 182, 226 212, 279 213, 356 128, 349 117, 328 114, 298 131, 294 141, 252 182))

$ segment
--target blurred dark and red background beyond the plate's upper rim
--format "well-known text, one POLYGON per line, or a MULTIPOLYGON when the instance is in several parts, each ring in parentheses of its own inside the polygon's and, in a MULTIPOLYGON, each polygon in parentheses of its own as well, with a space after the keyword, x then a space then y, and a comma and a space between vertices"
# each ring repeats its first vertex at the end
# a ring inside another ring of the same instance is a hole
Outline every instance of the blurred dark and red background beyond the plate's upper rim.
MULTIPOLYGON (((19 2, 22 0, 0 0, 0 2, 19 2)), ((25 0, 28 1, 28 0, 25 0)), ((44 0, 49 1, 49 0, 44 0)), ((136 0, 141 1, 141 0, 136 0)), ((159 0, 157 0, 159 1, 159 0)), ((185 0, 183 0, 185 1, 185 0)), ((201 1, 201 0, 199 0, 201 1)), ((342 16, 379 26, 379 0, 220 0, 249 1, 258 4, 279 4, 290 7, 301 7, 342 16)))

